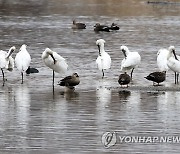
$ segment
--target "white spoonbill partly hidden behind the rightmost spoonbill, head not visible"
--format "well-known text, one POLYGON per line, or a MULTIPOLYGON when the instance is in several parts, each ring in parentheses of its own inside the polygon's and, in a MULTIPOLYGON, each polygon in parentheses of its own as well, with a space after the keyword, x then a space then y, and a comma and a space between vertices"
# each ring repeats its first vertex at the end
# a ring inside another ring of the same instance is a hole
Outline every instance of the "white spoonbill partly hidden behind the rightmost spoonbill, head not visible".
POLYGON ((160 49, 157 53, 157 66, 159 71, 167 72, 169 67, 167 66, 167 56, 169 54, 169 50, 167 49, 160 49))

